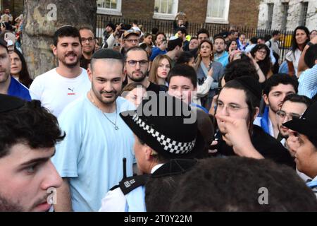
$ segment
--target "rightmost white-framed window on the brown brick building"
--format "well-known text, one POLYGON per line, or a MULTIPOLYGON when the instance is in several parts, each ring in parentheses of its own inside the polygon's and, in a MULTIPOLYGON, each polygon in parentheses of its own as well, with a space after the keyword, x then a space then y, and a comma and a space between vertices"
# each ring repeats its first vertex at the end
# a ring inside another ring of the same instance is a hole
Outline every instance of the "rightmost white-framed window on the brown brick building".
POLYGON ((230 0, 208 0, 206 23, 229 23, 230 0))

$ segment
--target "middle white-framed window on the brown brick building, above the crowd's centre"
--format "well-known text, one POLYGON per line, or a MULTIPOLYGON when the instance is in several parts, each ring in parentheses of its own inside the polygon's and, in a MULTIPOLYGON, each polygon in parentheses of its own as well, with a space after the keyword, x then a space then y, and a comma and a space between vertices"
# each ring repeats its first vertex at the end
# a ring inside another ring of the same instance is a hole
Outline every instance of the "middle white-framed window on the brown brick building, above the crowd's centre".
POLYGON ((155 0, 154 19, 174 20, 178 13, 178 0, 155 0))

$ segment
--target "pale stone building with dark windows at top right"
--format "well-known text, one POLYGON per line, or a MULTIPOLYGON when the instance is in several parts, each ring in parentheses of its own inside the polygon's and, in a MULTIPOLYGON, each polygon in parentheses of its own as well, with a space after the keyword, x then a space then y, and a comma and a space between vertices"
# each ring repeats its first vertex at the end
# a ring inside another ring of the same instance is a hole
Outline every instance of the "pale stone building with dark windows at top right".
POLYGON ((259 28, 294 30, 304 25, 317 28, 316 0, 261 0, 259 28))

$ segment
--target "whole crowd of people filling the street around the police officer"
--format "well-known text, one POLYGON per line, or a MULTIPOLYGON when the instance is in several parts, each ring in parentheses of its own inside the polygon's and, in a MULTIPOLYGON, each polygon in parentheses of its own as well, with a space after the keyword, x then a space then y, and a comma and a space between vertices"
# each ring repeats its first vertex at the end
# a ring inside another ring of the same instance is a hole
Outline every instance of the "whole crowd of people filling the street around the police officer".
POLYGON ((63 26, 34 80, 1 33, 0 211, 316 211, 316 32, 188 25, 63 26))

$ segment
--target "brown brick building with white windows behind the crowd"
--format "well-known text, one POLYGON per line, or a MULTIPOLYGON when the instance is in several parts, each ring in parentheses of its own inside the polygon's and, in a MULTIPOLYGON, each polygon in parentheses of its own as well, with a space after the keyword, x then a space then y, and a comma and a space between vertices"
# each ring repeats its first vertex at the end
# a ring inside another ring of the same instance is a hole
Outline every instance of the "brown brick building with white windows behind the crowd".
POLYGON ((98 14, 142 20, 174 20, 182 11, 192 23, 256 28, 260 0, 97 0, 98 14))

